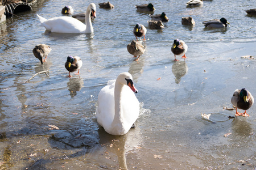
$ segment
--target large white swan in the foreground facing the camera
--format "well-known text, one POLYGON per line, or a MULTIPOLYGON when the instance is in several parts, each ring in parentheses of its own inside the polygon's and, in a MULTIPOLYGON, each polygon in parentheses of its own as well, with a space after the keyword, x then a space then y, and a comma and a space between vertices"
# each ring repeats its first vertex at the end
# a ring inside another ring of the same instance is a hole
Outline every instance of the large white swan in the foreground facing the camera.
POLYGON ((106 132, 112 135, 126 134, 139 116, 139 101, 134 95, 130 73, 121 73, 117 80, 109 80, 108 85, 98 94, 96 117, 106 132))

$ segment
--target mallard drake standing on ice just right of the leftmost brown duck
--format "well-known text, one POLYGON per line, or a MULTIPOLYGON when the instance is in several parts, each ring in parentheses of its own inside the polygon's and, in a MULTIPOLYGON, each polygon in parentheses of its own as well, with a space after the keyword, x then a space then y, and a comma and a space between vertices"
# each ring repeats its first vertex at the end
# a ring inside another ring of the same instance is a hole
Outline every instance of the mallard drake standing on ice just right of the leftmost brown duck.
POLYGON ((79 74, 79 70, 82 66, 82 60, 77 56, 68 56, 67 61, 65 62, 65 68, 69 71, 69 77, 71 77, 70 73, 77 71, 75 74, 79 74))

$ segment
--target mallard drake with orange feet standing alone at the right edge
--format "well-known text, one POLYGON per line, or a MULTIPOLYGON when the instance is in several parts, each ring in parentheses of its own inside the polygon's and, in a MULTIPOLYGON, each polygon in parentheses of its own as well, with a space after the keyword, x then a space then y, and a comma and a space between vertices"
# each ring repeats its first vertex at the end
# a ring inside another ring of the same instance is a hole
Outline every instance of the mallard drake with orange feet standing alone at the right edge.
POLYGON ((251 93, 245 88, 242 88, 241 90, 237 89, 234 91, 231 103, 236 107, 236 116, 249 116, 249 114, 246 113, 246 110, 253 105, 254 98, 253 95, 251 95, 251 93), (237 109, 245 110, 245 112, 239 113, 237 112, 237 109))

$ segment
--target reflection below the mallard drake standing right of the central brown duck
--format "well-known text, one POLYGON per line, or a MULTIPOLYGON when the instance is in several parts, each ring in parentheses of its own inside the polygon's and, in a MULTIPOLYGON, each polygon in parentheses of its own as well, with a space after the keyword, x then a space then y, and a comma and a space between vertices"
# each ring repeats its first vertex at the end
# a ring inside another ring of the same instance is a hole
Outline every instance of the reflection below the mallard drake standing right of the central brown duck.
POLYGON ((172 65, 172 74, 175 76, 175 83, 179 84, 181 78, 187 74, 188 72, 188 65, 185 61, 176 61, 172 65))

